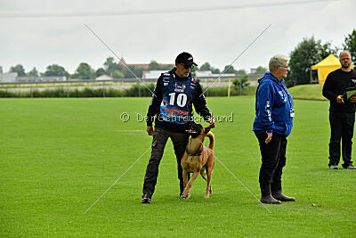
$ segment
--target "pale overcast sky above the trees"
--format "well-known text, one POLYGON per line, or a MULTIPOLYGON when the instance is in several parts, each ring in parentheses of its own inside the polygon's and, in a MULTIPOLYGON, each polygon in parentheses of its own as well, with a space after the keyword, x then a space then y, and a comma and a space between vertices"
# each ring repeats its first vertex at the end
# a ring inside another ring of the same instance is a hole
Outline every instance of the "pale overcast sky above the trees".
POLYGON ((87 24, 127 63, 174 63, 187 51, 222 70, 271 24, 233 63, 249 71, 303 37, 341 46, 356 28, 355 10, 355 0, 0 0, 0 66, 44 71, 56 63, 73 73, 87 62, 96 70, 114 55, 87 24))

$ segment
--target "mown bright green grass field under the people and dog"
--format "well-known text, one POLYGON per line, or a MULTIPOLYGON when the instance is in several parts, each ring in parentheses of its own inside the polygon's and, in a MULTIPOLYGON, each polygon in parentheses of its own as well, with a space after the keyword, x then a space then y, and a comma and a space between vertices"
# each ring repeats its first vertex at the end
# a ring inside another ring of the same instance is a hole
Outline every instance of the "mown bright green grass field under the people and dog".
MULTIPOLYGON (((259 198, 254 96, 207 101, 215 116, 234 115, 213 129, 215 155, 259 198)), ((135 114, 145 115, 149 103, 1 99, 0 236, 355 236, 356 171, 328 169, 328 102, 321 101, 295 101, 283 188, 296 202, 267 205, 270 213, 218 161, 210 199, 198 177, 184 201, 168 142, 152 204, 140 203, 149 150, 85 214, 150 148, 135 114)))

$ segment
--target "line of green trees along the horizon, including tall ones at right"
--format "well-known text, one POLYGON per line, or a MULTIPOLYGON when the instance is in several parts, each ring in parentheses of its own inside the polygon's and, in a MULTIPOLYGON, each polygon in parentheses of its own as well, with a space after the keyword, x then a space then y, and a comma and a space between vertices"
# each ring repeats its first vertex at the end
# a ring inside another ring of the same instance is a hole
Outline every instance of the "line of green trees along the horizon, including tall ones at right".
MULTIPOLYGON (((344 43, 342 47, 332 45, 330 42, 322 43, 320 39, 315 37, 305 37, 302 42, 297 44, 290 53, 289 67, 286 78, 287 86, 303 85, 311 83, 311 66, 323 60, 330 53, 338 56, 337 53, 340 50, 348 50, 352 55, 352 59, 356 59, 356 29, 353 29, 351 34, 344 37, 344 43)), ((171 70, 174 65, 161 65, 156 61, 151 61, 148 70, 171 70)), ((75 79, 93 79, 103 74, 107 74, 112 78, 134 78, 134 75, 138 78, 142 78, 142 72, 147 69, 140 67, 134 67, 132 65, 124 66, 122 63, 115 61, 115 58, 109 56, 103 63, 102 67, 94 70, 88 63, 81 62, 77 67, 77 70, 73 74, 69 74, 64 67, 58 64, 52 64, 46 67, 46 70, 42 73, 38 72, 36 68, 25 72, 24 67, 21 64, 12 66, 10 71, 17 72, 19 77, 61 77, 75 79), (134 73, 134 74, 133 74, 134 73)), ((235 70, 233 66, 229 68, 226 65, 223 70, 219 70, 210 65, 209 62, 203 63, 200 67, 194 68, 196 70, 211 70, 215 74, 234 73, 240 77, 247 76, 246 70, 235 70)), ((256 69, 256 74, 263 74, 267 69, 263 66, 259 66, 256 69)), ((312 72, 312 78, 316 78, 316 71, 312 72)))

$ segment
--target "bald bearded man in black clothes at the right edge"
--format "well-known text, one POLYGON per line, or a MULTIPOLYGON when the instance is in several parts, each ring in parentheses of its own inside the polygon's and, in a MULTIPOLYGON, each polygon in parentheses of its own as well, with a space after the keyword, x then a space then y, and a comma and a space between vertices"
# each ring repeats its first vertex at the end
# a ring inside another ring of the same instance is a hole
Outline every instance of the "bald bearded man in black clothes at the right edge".
POLYGON ((331 136, 329 147, 329 163, 331 169, 339 169, 340 141, 342 140, 343 168, 355 169, 352 166, 352 136, 355 123, 356 96, 344 101, 345 88, 356 86, 356 72, 351 69, 352 58, 348 51, 339 55, 341 69, 328 74, 322 94, 330 101, 329 121, 331 136))

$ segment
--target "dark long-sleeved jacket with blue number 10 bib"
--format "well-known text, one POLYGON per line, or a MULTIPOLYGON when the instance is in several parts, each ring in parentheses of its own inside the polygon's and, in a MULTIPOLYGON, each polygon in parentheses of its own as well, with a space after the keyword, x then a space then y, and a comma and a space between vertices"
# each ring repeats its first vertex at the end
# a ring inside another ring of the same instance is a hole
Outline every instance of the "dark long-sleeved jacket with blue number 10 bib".
POLYGON ((185 133, 193 116, 193 105, 195 111, 205 120, 211 114, 206 108, 206 99, 198 78, 191 74, 187 78, 180 78, 175 70, 174 68, 163 73, 158 78, 146 122, 147 126, 152 126, 155 120, 155 127, 185 133))

